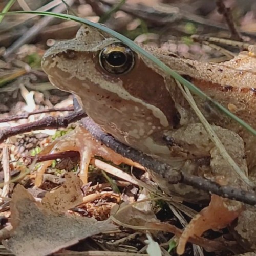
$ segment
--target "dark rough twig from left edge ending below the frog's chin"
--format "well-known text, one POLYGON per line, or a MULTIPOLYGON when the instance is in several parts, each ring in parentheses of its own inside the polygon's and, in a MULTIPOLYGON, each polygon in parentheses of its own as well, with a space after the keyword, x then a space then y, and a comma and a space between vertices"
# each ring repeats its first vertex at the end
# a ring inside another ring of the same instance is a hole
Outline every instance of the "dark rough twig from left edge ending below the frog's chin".
POLYGON ((2 143, 5 139, 20 133, 27 133, 42 129, 66 128, 70 123, 80 120, 85 116, 86 114, 83 111, 77 111, 70 113, 65 117, 46 117, 35 122, 21 124, 15 127, 8 127, 5 130, 0 130, 0 143, 2 143))

